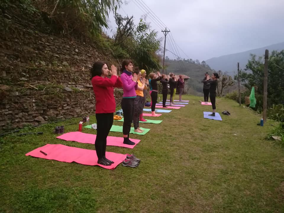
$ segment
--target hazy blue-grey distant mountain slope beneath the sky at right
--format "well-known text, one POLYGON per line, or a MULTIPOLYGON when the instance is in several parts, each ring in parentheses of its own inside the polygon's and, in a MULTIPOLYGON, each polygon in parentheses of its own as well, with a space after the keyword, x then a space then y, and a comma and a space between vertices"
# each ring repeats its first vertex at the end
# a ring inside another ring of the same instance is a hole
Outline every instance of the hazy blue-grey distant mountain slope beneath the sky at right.
POLYGON ((250 59, 250 54, 255 54, 256 56, 263 56, 265 53, 265 49, 268 49, 269 52, 272 50, 281 51, 284 49, 284 42, 272 44, 270 46, 252 49, 245 52, 224 55, 220 57, 215 57, 206 60, 206 64, 208 64, 211 69, 216 71, 222 70, 222 72, 226 72, 228 75, 235 75, 237 73, 237 63, 240 63, 240 68, 244 69, 248 60, 250 59))

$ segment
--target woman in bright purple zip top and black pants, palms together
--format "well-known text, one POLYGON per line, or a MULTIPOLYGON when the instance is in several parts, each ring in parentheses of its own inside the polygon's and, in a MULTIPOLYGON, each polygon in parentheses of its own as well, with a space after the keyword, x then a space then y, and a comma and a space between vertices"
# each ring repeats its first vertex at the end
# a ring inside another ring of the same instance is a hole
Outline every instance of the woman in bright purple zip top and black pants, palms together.
POLYGON ((136 98, 135 90, 137 90, 138 87, 137 75, 134 73, 132 76, 133 62, 129 59, 123 61, 120 72, 122 72, 122 74, 120 75, 120 79, 123 84, 123 97, 121 101, 121 108, 124 116, 122 129, 124 138, 123 143, 128 145, 134 145, 135 143, 129 140, 131 123, 133 121, 134 99, 136 98))

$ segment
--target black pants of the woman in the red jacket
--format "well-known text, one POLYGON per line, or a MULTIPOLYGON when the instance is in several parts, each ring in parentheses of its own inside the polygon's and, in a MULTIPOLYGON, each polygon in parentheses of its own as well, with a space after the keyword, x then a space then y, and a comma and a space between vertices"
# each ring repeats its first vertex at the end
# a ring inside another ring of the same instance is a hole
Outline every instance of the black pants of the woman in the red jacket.
POLYGON ((109 130, 112 128, 113 113, 98 113, 97 119, 97 136, 95 148, 98 159, 106 156, 106 137, 109 135, 109 130))

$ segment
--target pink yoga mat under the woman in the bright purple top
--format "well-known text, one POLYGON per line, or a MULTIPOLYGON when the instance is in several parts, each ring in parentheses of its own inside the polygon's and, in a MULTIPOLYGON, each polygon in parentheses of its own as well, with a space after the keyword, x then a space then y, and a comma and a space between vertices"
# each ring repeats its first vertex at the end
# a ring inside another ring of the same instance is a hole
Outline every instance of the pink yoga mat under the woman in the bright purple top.
MULTIPOLYGON (((70 132, 70 133, 65 133, 63 135, 60 135, 56 138, 65 140, 65 141, 77 141, 79 143, 91 143, 95 144, 96 141, 96 136, 93 134, 88 134, 88 133, 82 133, 82 132, 70 132)), ((123 143, 123 138, 121 137, 113 137, 113 136, 107 136, 106 138, 106 146, 120 146, 120 147, 126 147, 133 149, 134 146, 137 145, 141 140, 138 139, 131 139, 135 144, 134 145, 128 145, 123 143)))

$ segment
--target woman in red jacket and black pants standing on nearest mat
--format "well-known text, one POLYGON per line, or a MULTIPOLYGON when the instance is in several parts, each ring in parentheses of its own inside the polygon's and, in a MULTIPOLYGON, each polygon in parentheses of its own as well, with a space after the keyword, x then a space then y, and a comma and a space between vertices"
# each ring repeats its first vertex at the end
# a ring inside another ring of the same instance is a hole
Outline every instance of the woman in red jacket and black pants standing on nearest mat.
POLYGON ((104 62, 95 62, 91 69, 93 91, 96 96, 97 136, 95 141, 98 164, 110 166, 114 162, 106 158, 106 138, 113 123, 115 112, 114 87, 122 87, 122 81, 117 75, 114 65, 111 71, 104 62), (111 78, 107 76, 111 75, 111 78))

